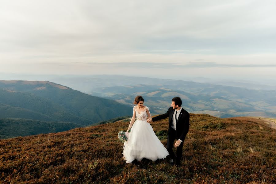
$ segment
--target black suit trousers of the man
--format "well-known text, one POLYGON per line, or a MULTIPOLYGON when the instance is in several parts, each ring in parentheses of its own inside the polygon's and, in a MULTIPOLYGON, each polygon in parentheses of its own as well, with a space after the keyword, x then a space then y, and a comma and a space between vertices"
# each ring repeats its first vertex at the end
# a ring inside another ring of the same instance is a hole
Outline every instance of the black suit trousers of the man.
MULTIPOLYGON (((173 152, 173 147, 174 147, 174 140, 176 139, 176 130, 173 128, 169 128, 168 130, 168 139, 167 139, 167 150, 170 154, 171 159, 176 160, 176 165, 180 164, 180 160, 182 157, 182 148, 183 148, 183 142, 176 148, 176 157, 173 152)), ((177 139, 178 140, 178 139, 177 139)))

